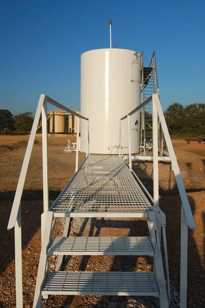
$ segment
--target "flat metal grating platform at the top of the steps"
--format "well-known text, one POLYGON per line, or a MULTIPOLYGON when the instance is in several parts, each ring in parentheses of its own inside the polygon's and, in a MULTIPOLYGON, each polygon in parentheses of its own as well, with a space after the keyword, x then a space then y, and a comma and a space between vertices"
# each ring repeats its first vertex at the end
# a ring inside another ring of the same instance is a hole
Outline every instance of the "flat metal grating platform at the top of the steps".
POLYGON ((88 156, 51 206, 55 217, 147 217, 153 208, 120 156, 88 156))

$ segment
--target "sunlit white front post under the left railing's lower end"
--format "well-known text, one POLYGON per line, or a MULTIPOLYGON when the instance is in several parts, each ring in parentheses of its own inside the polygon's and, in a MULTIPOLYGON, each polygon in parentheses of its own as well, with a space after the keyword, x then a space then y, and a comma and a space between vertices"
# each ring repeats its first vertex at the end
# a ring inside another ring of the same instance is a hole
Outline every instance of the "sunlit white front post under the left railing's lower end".
POLYGON ((15 234, 15 276, 16 276, 16 308, 23 307, 22 290, 22 254, 21 254, 21 204, 18 208, 17 220, 14 227, 15 234))

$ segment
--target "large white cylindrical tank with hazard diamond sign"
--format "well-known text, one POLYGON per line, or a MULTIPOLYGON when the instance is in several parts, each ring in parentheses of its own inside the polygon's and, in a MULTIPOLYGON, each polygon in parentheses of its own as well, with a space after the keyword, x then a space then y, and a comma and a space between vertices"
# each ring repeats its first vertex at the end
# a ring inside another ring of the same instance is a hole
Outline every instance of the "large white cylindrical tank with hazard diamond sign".
MULTIPOLYGON (((141 55, 127 49, 96 49, 81 55, 81 114, 89 119, 89 152, 115 153, 120 119, 140 104, 141 55)), ((87 147, 81 120, 81 151, 87 147)), ((130 117, 131 152, 140 151, 140 112, 130 117)), ((127 119, 122 121, 123 153, 128 153, 127 119)))

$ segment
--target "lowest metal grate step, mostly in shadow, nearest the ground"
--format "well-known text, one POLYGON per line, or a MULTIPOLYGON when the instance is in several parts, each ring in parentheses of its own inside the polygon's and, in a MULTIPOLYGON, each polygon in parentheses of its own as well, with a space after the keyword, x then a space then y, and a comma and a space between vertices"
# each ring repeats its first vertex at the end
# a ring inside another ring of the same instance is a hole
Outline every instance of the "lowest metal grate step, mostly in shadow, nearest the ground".
POLYGON ((160 291, 154 273, 50 272, 41 294, 160 296, 160 291))

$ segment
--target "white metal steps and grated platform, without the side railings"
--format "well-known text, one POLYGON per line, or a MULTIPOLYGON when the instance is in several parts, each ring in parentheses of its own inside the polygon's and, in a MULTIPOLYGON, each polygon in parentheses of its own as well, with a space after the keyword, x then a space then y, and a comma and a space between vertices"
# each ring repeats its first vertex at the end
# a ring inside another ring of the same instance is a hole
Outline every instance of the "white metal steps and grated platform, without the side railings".
MULTIPOLYGON (((121 156, 88 156, 49 211, 43 232, 33 307, 49 295, 155 296, 168 307, 161 255, 161 226, 140 185, 121 156), (62 237, 52 240, 56 217, 65 217, 62 237), (67 237, 71 217, 146 218, 149 237, 67 237), (48 256, 58 256, 48 272, 48 256), (151 256, 153 272, 61 272, 64 255, 151 256)), ((159 220, 160 221, 160 220, 159 220)))

